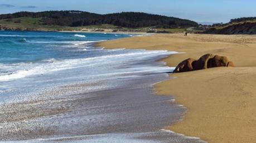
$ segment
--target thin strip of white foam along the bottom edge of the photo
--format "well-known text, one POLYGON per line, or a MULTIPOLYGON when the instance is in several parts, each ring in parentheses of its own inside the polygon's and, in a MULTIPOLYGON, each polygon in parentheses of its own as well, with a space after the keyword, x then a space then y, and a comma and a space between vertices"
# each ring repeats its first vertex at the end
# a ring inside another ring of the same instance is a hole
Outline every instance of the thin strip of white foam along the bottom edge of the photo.
POLYGON ((158 140, 149 140, 151 137, 156 137, 158 132, 136 132, 136 133, 111 133, 111 134, 96 134, 96 135, 81 135, 81 136, 65 136, 65 137, 52 137, 48 139, 31 139, 24 141, 15 141, 15 142, 54 142, 54 141, 62 141, 62 142, 182 142, 182 141, 191 141, 191 142, 205 142, 200 140, 199 137, 186 137, 182 134, 176 134, 173 131, 166 130, 160 131, 164 132, 166 136, 170 136, 170 138, 166 138, 163 136, 162 139, 158 140), (178 138, 176 136, 182 136, 185 139, 178 138), (145 137, 143 139, 143 137, 145 137), (147 137, 149 139, 147 139, 147 137), (138 140, 139 139, 139 140, 138 140))

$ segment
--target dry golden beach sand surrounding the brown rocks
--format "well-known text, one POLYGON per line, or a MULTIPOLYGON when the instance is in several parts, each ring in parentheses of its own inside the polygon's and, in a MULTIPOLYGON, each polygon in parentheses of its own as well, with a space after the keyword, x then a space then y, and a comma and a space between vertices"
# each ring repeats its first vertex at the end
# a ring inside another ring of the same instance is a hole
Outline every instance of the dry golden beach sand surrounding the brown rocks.
POLYGON ((170 67, 207 53, 227 56, 236 68, 171 74, 177 78, 156 85, 159 94, 176 96, 188 109, 184 120, 167 128, 209 142, 256 142, 255 35, 156 34, 97 45, 185 52, 163 59, 170 67))

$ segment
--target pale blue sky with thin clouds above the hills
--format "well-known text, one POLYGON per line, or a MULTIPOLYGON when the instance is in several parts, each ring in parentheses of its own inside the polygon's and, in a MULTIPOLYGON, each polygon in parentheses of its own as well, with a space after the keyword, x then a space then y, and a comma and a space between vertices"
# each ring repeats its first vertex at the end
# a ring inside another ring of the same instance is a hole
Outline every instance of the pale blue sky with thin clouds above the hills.
POLYGON ((50 10, 146 12, 196 22, 226 23, 232 18, 256 17, 255 6, 255 0, 0 0, 0 14, 50 10))

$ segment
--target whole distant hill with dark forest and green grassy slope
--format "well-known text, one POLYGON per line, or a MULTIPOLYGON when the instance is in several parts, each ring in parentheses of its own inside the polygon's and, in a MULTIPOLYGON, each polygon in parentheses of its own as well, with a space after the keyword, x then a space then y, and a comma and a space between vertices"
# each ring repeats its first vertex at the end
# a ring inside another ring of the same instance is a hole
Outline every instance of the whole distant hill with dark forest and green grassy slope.
POLYGON ((17 12, 1 14, 1 27, 31 29, 74 29, 90 25, 113 25, 119 28, 188 28, 198 24, 186 19, 140 12, 96 14, 82 11, 17 12))

